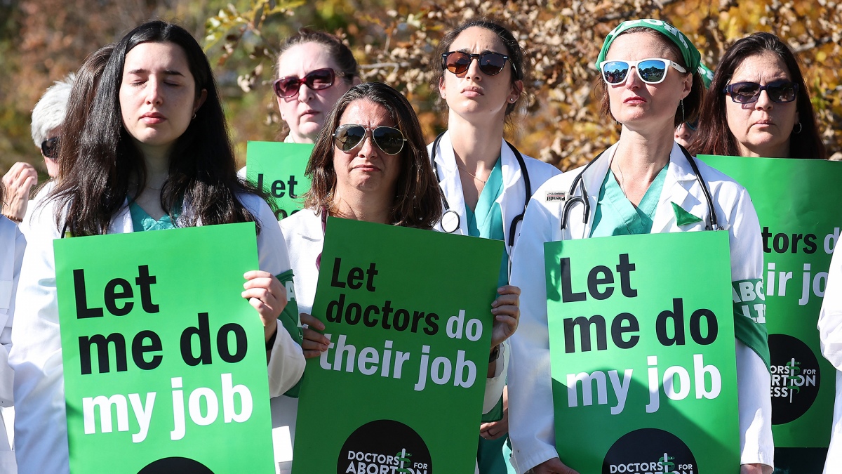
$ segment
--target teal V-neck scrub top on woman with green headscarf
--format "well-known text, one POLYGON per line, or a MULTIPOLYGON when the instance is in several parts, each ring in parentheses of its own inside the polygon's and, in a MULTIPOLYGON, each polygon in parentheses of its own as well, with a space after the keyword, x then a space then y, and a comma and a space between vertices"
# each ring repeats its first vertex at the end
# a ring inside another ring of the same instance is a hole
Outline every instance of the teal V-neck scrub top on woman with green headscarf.
POLYGON ((652 232, 652 221, 658 209, 663 181, 667 177, 667 167, 664 166, 658 172, 637 207, 628 200, 614 173, 609 170, 600 186, 600 199, 596 203, 590 236, 608 237, 652 232))

